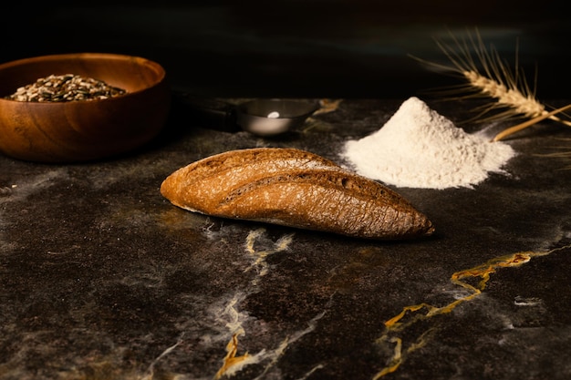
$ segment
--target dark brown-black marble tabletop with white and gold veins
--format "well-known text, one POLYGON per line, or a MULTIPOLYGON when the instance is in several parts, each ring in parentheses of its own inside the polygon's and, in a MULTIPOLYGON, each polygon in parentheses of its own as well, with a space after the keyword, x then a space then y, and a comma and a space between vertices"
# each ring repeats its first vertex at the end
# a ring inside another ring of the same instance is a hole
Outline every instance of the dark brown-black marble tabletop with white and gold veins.
MULTIPOLYGON (((403 100, 347 99, 279 139, 171 118, 121 158, 0 156, 0 378, 571 377, 571 170, 541 156, 571 148, 568 128, 508 140, 510 175, 473 190, 396 189, 436 225, 420 241, 213 219, 159 192, 228 149, 341 163, 403 100)), ((454 119, 471 103, 431 106, 454 119)))

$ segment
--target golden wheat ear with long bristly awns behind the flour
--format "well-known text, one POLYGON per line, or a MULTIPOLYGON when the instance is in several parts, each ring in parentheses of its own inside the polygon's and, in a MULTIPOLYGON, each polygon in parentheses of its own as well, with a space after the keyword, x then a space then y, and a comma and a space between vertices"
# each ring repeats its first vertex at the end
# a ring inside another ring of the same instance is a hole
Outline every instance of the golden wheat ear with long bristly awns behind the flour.
MULTIPOLYGON (((468 34, 468 38, 459 39, 452 33, 453 45, 436 40, 436 44, 448 57, 452 66, 440 65, 414 57, 415 59, 433 67, 452 72, 464 81, 464 85, 452 88, 452 91, 463 93, 462 98, 484 97, 492 98, 495 102, 481 108, 475 117, 480 121, 489 121, 498 118, 523 117, 530 120, 512 128, 506 128, 493 138, 493 141, 504 139, 516 131, 530 127, 535 123, 550 118, 556 122, 571 127, 571 121, 559 118, 556 114, 564 112, 567 108, 558 108, 555 111, 545 109, 545 105, 535 98, 535 90, 528 85, 523 70, 517 63, 517 49, 514 70, 501 59, 497 50, 483 44, 482 37, 476 31, 476 36, 468 34), (499 113, 485 118, 493 110, 501 109, 499 113), (531 122, 531 120, 535 120, 531 122)), ((535 77, 536 81, 536 77, 535 77)), ((452 92, 449 92, 452 94, 452 92)), ((570 105, 571 106, 571 105, 570 105)))

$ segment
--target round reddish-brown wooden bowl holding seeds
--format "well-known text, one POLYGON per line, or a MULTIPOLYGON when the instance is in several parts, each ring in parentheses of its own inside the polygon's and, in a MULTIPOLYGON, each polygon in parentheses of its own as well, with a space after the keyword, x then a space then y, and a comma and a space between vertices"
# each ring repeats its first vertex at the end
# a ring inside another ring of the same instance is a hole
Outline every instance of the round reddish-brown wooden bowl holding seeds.
POLYGON ((161 65, 139 56, 78 53, 0 65, 0 151, 36 162, 78 162, 127 152, 166 124, 170 88, 161 65), (17 101, 18 87, 73 74, 125 89, 119 97, 65 102, 17 101))

